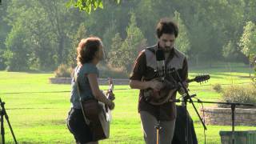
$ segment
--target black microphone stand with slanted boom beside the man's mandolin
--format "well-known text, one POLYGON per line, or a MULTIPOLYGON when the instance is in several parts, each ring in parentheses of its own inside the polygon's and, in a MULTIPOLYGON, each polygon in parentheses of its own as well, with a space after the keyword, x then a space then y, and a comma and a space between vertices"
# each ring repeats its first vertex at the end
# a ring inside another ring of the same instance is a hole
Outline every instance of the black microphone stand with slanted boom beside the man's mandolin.
MULTIPOLYGON (((186 89, 186 86, 184 86, 184 84, 183 84, 183 82, 182 82, 182 78, 181 78, 181 77, 179 76, 179 74, 178 74, 178 71, 175 70, 175 69, 174 69, 173 71, 174 71, 174 73, 176 74, 176 76, 177 76, 177 78, 178 78, 178 82, 180 83, 181 87, 183 88, 183 90, 184 90, 184 92, 185 92, 185 96, 182 97, 182 98, 183 98, 182 102, 183 102, 183 104, 184 104, 185 110, 187 111, 187 106, 186 106, 186 105, 187 105, 187 102, 189 101, 189 102, 192 104, 192 106, 194 107, 194 110, 195 110, 196 114, 198 114, 198 118, 200 119, 203 128, 204 128, 205 130, 207 130, 205 123, 202 121, 202 118, 201 118, 200 114, 198 113, 198 110, 197 110, 196 107, 194 106, 194 102, 193 102, 192 99, 191 99, 192 97, 194 97, 194 95, 193 95, 193 96, 190 96, 188 90, 186 89)), ((189 134, 188 134, 188 122, 189 122, 189 119, 188 119, 187 114, 186 114, 186 143, 187 143, 187 144, 188 144, 188 135, 189 135, 189 134)))

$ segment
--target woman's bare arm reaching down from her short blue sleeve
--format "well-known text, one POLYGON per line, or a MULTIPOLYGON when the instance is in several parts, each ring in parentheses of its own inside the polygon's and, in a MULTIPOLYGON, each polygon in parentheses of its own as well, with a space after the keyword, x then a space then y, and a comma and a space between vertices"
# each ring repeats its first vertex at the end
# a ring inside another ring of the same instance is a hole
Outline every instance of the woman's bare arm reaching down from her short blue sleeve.
POLYGON ((105 94, 99 90, 97 74, 88 74, 87 78, 90 82, 90 89, 92 90, 94 97, 98 99, 98 101, 105 103, 110 107, 110 110, 114 109, 114 102, 110 101, 110 99, 106 98, 105 94))

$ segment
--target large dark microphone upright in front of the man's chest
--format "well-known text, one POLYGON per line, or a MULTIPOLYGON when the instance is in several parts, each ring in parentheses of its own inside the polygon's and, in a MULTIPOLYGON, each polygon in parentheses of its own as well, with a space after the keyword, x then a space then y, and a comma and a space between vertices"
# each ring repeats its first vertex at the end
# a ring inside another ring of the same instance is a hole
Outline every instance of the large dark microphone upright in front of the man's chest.
POLYGON ((160 77, 162 77, 162 81, 164 81, 165 71, 166 71, 165 54, 164 54, 163 50, 157 50, 155 55, 156 55, 157 65, 158 65, 158 67, 157 67, 158 75, 160 77))

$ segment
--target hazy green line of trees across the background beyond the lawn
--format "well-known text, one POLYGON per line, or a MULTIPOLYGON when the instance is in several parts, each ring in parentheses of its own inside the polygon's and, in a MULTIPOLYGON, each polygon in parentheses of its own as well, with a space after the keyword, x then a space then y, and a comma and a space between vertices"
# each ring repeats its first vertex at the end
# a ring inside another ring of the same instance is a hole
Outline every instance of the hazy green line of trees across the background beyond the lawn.
POLYGON ((157 42, 160 18, 179 26, 176 47, 189 62, 253 62, 254 0, 102 1, 78 9, 69 0, 10 0, 0 6, 0 69, 55 70, 75 66, 81 38, 102 38, 106 65, 130 72, 138 52, 157 42), (119 3, 119 4, 117 4, 119 3), (90 14, 81 10, 90 10, 90 14))

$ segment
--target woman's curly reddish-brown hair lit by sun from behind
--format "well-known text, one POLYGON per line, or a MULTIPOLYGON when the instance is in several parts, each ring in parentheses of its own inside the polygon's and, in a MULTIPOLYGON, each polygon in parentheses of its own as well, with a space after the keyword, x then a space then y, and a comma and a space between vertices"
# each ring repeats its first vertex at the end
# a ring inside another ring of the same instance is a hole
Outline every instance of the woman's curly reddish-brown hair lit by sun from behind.
POLYGON ((96 52, 102 46, 102 40, 98 37, 83 38, 77 48, 77 63, 84 64, 94 59, 96 52))

